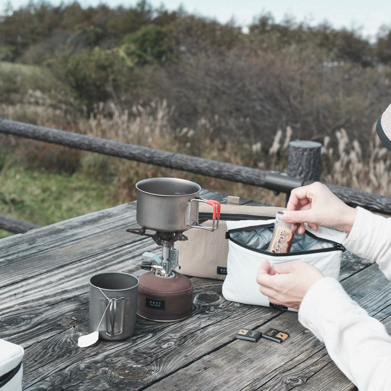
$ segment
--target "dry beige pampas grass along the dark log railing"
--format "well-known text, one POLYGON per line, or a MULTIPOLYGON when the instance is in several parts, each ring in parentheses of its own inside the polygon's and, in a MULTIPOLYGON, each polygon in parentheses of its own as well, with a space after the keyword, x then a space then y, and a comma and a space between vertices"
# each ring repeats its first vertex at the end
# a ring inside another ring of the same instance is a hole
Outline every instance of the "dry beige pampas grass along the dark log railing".
MULTIPOLYGON (((289 141, 294 136, 290 126, 277 129, 272 146, 265 151, 262 139, 248 145, 240 138, 237 140, 215 138, 215 128, 219 126, 217 116, 214 122, 200 118, 195 129, 188 127, 172 129, 170 117, 175 108, 169 107, 164 99, 155 99, 147 105, 134 104, 126 110, 119 109, 114 102, 101 103, 95 105, 94 111, 88 118, 79 117, 75 120, 69 118, 65 109, 50 108, 44 97, 39 98, 44 102, 43 104, 31 102, 14 106, 3 104, 0 107, 0 115, 13 120, 77 131, 125 143, 229 161, 264 170, 286 172, 289 141)), ((366 145, 363 145, 360 140, 351 139, 343 128, 338 129, 334 137, 324 137, 321 149, 322 181, 391 196, 391 152, 382 146, 375 127, 369 132, 369 143, 366 145)), ((25 148, 28 148, 29 142, 29 140, 23 142, 25 148)), ((276 197, 269 190, 85 153, 84 158, 81 159, 80 169, 88 169, 90 166, 114 178, 117 194, 122 201, 135 198, 132 189, 137 180, 151 176, 172 175, 198 181, 204 188, 271 204, 285 203, 285 195, 276 197)))

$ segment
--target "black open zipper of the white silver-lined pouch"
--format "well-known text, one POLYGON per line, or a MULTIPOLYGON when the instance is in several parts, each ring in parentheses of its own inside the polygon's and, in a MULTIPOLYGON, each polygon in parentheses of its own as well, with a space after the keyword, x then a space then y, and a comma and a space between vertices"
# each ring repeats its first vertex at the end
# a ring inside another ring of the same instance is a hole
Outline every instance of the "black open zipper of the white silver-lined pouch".
POLYGON ((234 228, 233 230, 228 230, 228 232, 226 233, 226 239, 232 240, 232 242, 234 242, 238 246, 241 246, 241 247, 244 247, 244 248, 256 251, 257 253, 266 254, 266 255, 269 255, 269 256, 305 255, 305 254, 326 253, 328 251, 342 251, 342 252, 344 252, 346 250, 346 248, 344 248, 344 246, 342 246, 342 244, 340 244, 338 242, 334 242, 334 240, 319 238, 318 236, 314 235, 313 233, 311 233, 311 232, 309 232, 307 230, 305 230, 305 233, 308 236, 312 237, 313 239, 319 240, 320 242, 331 243, 333 245, 333 247, 321 248, 321 249, 317 249, 317 250, 292 251, 291 253, 276 254, 276 253, 271 253, 270 251, 260 250, 258 248, 253 247, 253 246, 249 246, 248 244, 243 244, 243 243, 239 242, 238 240, 233 239, 233 238, 230 237, 230 233, 231 232, 251 231, 254 228, 259 228, 259 227, 271 228, 273 226, 274 226, 274 223, 266 224, 266 225, 262 225, 262 226, 255 225, 255 226, 246 227, 246 228, 234 228))

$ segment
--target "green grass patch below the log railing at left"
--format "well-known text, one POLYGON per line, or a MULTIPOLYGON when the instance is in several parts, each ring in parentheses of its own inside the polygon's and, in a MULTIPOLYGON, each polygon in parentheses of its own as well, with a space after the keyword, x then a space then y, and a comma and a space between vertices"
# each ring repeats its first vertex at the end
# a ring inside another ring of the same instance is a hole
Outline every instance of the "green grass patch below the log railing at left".
MULTIPOLYGON (((25 169, 14 162, 0 174, 0 214, 48 225, 115 206, 114 185, 83 173, 25 169)), ((0 231, 0 237, 11 233, 0 231)))

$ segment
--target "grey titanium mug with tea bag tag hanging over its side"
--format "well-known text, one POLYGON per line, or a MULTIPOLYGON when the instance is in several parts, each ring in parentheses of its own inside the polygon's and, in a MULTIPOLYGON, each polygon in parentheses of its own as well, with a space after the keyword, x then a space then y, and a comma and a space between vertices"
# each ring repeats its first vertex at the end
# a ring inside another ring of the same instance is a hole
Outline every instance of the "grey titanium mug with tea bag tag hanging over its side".
POLYGON ((94 274, 89 283, 90 333, 98 330, 99 339, 106 341, 131 337, 136 329, 138 278, 106 272, 94 274))

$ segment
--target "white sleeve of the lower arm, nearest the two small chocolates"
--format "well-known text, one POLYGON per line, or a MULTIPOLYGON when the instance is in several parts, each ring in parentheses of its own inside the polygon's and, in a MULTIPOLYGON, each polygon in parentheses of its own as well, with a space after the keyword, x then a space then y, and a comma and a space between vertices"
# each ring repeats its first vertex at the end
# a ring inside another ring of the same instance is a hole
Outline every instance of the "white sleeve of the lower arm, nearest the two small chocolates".
POLYGON ((315 283, 304 297, 299 321, 325 343, 338 368, 360 389, 389 389, 391 337, 384 326, 333 278, 315 283))

